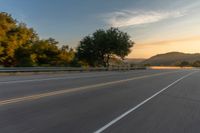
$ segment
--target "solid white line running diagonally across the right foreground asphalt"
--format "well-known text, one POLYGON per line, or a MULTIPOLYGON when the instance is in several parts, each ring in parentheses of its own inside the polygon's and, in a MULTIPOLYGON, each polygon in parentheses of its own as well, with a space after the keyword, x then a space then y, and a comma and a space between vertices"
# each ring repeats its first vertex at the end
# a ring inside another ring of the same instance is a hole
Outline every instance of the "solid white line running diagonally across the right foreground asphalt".
POLYGON ((165 88, 163 88, 162 90, 158 91, 157 93, 155 93, 154 95, 152 95, 151 97, 147 98, 146 100, 144 100, 143 102, 139 103, 138 105, 136 105, 135 107, 131 108, 130 110, 126 111, 125 113, 121 114, 119 117, 113 119, 111 122, 109 122, 108 124, 104 125, 103 127, 101 127, 100 129, 98 129, 97 131, 95 131, 94 133, 102 133, 103 131, 105 131, 107 128, 111 127, 112 125, 114 125, 115 123, 117 123, 118 121, 120 121, 122 118, 126 117, 128 114, 132 113, 133 111, 135 111, 136 109, 138 109, 139 107, 141 107, 142 105, 144 105, 145 103, 147 103, 148 101, 150 101, 151 99, 153 99, 154 97, 158 96, 160 93, 162 93, 163 91, 167 90, 168 88, 170 88, 171 86, 177 84, 179 81, 183 80, 186 77, 189 77, 190 75, 196 73, 192 72, 189 73, 179 79, 177 79, 176 81, 174 81, 173 83, 171 83, 170 85, 166 86, 165 88))

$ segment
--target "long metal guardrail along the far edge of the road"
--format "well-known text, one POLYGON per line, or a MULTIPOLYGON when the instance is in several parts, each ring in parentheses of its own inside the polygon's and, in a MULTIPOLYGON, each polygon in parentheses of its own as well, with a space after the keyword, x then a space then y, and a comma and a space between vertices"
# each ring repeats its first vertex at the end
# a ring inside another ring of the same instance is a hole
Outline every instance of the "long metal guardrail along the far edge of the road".
POLYGON ((58 71, 119 71, 119 70, 138 70, 145 67, 2 67, 0 73, 16 72, 58 72, 58 71))

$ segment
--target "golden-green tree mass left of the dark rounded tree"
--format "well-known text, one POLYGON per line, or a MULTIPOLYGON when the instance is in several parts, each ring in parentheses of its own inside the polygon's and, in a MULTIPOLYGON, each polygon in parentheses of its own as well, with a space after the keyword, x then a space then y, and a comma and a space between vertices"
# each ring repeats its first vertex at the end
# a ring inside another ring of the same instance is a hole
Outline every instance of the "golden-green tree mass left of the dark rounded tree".
POLYGON ((41 40, 33 28, 0 12, 0 65, 69 66, 74 55, 67 45, 60 48, 53 38, 41 40))

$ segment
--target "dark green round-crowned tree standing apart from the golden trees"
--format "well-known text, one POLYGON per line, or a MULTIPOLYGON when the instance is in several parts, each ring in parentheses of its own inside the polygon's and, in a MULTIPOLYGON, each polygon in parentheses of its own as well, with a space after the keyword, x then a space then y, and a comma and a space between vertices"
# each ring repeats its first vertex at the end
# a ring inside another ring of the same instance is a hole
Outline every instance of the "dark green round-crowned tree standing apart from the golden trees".
POLYGON ((130 36, 117 28, 100 29, 80 41, 77 57, 90 66, 108 67, 111 57, 124 59, 133 44, 130 36))

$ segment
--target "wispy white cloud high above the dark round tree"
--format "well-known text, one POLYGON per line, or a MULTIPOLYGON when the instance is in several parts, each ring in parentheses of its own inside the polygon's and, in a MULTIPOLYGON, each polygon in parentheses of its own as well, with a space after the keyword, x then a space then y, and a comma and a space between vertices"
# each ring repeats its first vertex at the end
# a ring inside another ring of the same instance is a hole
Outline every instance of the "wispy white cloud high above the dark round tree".
POLYGON ((159 22, 185 15, 185 11, 131 11, 122 10, 106 14, 104 20, 112 27, 127 27, 159 22))

